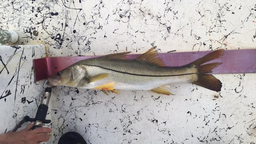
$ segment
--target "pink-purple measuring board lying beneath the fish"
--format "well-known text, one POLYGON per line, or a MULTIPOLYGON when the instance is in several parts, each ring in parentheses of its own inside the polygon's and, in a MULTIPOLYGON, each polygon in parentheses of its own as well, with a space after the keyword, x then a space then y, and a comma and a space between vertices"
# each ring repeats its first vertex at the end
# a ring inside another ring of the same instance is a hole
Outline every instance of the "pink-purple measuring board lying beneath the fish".
MULTIPOLYGON (((205 56, 210 51, 159 53, 166 66, 183 66, 205 56)), ((129 54, 127 59, 137 58, 140 54, 129 54)), ((99 56, 49 57, 34 59, 35 81, 51 76, 78 61, 99 56)), ((226 50, 222 58, 211 62, 223 64, 213 69, 213 73, 255 73, 256 49, 226 50)))

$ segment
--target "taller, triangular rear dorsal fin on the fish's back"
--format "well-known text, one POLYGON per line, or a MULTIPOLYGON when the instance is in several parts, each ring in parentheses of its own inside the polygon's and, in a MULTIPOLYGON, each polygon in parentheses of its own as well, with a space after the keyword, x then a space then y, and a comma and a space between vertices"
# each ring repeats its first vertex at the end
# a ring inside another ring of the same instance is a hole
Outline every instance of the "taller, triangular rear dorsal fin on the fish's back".
POLYGON ((146 53, 143 53, 141 56, 136 58, 136 60, 152 63, 157 66, 165 66, 165 63, 162 61, 161 58, 156 58, 158 56, 158 53, 157 53, 157 50, 153 51, 155 50, 155 48, 156 46, 154 46, 153 48, 150 48, 150 50, 148 50, 146 53))

